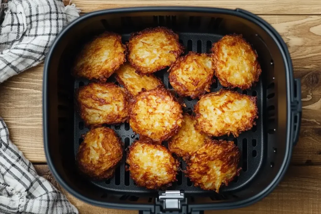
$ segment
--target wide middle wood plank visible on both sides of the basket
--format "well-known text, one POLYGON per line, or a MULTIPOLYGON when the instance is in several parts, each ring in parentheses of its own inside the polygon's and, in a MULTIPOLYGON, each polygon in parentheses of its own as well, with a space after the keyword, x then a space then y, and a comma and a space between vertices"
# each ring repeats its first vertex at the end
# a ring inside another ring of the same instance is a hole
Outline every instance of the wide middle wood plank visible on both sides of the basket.
MULTIPOLYGON (((303 119, 293 164, 321 164, 321 16, 262 16, 286 41, 295 77, 302 79, 303 119)), ((32 162, 45 163, 42 141, 42 67, 0 84, 0 116, 11 139, 32 162)))

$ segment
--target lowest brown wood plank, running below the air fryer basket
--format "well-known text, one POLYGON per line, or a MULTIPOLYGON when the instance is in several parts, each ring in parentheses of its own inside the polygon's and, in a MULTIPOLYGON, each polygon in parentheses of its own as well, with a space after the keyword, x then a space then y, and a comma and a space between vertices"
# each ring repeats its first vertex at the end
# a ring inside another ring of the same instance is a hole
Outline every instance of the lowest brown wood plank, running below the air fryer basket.
MULTIPOLYGON (((47 165, 35 165, 39 175, 44 176, 62 191, 75 205, 79 213, 134 214, 137 211, 113 210, 95 207, 82 202, 66 192, 50 173, 47 165)), ((321 210, 321 166, 290 166, 282 182, 262 201, 236 210, 206 211, 206 214, 302 214, 317 213, 321 210), (299 196, 299 197, 298 197, 299 196)))

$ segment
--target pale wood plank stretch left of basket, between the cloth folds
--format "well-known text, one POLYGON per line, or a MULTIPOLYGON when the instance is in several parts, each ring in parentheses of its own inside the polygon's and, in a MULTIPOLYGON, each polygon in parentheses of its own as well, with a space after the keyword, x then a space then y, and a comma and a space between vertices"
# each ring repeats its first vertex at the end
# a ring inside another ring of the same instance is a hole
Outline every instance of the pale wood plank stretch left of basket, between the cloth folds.
POLYGON ((42 138, 43 64, 0 84, 0 116, 10 139, 32 162, 46 162, 42 138))

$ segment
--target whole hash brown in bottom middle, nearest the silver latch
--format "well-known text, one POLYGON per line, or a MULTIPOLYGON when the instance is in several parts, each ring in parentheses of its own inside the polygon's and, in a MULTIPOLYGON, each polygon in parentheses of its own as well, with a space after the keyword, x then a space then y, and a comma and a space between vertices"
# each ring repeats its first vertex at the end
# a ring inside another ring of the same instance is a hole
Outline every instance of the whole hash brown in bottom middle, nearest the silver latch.
POLYGON ((135 141, 127 153, 130 176, 138 186, 160 189, 176 181, 179 162, 166 147, 152 141, 135 141))

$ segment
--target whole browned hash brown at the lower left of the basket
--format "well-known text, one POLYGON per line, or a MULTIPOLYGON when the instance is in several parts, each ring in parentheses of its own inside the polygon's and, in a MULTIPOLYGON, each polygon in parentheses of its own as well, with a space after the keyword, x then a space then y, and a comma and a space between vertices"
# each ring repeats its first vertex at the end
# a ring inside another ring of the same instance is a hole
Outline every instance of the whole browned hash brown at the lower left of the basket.
POLYGON ((87 176, 108 179, 113 176, 115 166, 122 156, 122 142, 114 130, 98 127, 85 134, 78 149, 77 164, 87 176))

